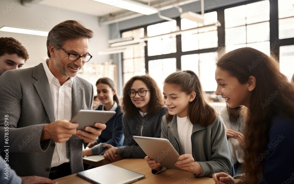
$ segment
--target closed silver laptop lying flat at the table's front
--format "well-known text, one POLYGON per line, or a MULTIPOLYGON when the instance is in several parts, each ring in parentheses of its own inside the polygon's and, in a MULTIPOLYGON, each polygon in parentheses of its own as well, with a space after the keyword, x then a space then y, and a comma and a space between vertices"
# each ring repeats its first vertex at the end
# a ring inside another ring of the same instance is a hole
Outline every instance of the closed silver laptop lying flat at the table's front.
POLYGON ((112 164, 82 171, 76 175, 97 184, 127 184, 145 178, 143 174, 112 164))

